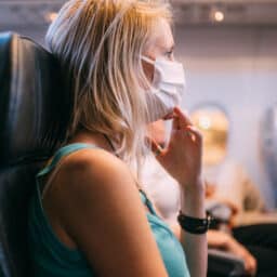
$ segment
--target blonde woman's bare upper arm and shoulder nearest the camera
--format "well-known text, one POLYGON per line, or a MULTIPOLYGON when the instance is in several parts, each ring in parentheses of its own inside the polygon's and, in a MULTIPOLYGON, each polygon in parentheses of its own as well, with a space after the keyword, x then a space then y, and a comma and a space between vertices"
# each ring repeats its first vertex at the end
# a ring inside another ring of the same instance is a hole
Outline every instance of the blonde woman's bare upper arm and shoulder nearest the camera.
POLYGON ((102 150, 64 167, 62 222, 97 276, 167 277, 126 164, 102 150))

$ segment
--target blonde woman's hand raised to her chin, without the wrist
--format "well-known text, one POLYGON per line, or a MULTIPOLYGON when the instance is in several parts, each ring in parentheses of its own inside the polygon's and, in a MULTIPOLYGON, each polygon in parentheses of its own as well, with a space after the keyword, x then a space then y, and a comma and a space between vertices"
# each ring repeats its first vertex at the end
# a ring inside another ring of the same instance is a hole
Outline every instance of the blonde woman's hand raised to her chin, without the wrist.
POLYGON ((188 116, 179 107, 173 110, 170 142, 161 149, 151 142, 154 153, 161 166, 180 183, 185 190, 203 186, 201 181, 202 135, 188 116))

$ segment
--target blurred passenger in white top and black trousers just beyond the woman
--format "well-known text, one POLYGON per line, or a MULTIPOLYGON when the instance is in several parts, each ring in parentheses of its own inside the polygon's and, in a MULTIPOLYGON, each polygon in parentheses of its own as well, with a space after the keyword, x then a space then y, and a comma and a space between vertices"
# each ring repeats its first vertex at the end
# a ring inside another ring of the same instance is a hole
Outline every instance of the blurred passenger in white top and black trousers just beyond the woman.
MULTIPOLYGON (((157 144, 161 147, 166 145, 166 128, 162 120, 150 124, 149 136, 154 145, 157 144)), ((149 194, 160 215, 177 236, 179 184, 160 167, 153 155, 146 160, 141 179, 144 189, 149 194)), ((210 187, 207 194, 211 198, 214 194, 213 188, 210 187)), ((233 213, 237 212, 236 203, 234 205, 227 198, 226 201, 223 200, 223 203, 229 206, 233 213)), ((230 229, 227 233, 216 229, 209 230, 208 246, 226 250, 241 258, 249 274, 256 272, 259 277, 277 276, 277 225, 228 226, 230 229)))

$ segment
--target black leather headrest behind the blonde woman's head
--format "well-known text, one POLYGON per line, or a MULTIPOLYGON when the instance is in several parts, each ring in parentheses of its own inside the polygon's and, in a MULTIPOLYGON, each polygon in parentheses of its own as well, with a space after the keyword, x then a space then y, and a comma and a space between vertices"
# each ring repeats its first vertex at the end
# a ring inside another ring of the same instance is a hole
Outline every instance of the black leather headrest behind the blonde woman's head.
POLYGON ((55 57, 0 34, 0 169, 51 155, 65 138, 70 104, 55 57))

